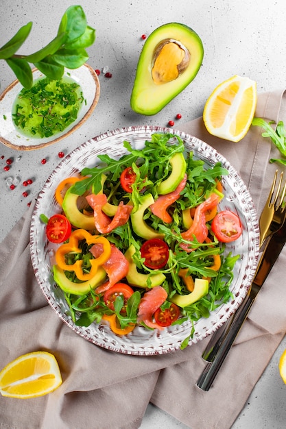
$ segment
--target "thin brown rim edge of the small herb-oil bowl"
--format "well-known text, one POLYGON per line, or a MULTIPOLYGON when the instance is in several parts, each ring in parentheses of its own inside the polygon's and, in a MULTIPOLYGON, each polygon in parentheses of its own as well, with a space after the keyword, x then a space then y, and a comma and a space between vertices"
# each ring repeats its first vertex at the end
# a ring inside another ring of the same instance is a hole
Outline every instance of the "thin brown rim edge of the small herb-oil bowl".
MULTIPOLYGON (((58 141, 62 140, 63 138, 66 138, 67 136, 69 136, 70 134, 72 134, 73 132, 75 132, 75 130, 78 130, 78 128, 80 128, 82 126, 82 124, 84 122, 86 122, 86 120, 91 116, 91 114, 93 113, 93 110, 95 110, 95 106, 97 106, 97 103, 99 101, 99 95, 100 95, 100 83, 99 83, 99 78, 97 76, 97 73, 95 72, 95 70, 93 69, 92 66, 90 66, 87 63, 82 64, 82 66, 80 66, 78 69, 80 69, 81 67, 86 67, 86 69, 88 69, 89 73, 91 73, 91 76, 93 77, 93 80, 95 82, 95 97, 93 99, 93 102, 91 103, 91 106, 88 108, 88 111, 86 112, 86 114, 84 114, 84 117, 82 117, 82 119, 80 119, 80 121, 76 121, 75 120, 75 124, 73 125, 73 127, 71 127, 71 129, 67 130, 67 132, 64 132, 63 134, 60 134, 59 136, 56 136, 55 138, 53 138, 52 140, 45 142, 45 143, 40 143, 38 145, 14 145, 14 143, 11 143, 9 140, 7 140, 6 138, 4 138, 3 136, 0 135, 0 142, 3 143, 3 145, 10 147, 11 149, 16 149, 19 151, 30 151, 30 150, 34 150, 34 149, 42 149, 43 147, 46 146, 50 146, 53 145, 54 143, 57 143, 58 141)), ((76 70, 78 70, 76 69, 76 70)), ((36 69, 36 67, 34 69, 32 69, 32 73, 35 73, 36 71, 39 71, 38 69, 36 69)), ((64 71, 71 71, 71 69, 67 69, 65 68, 64 71)), ((42 73, 42 72, 40 72, 42 73)), ((44 73, 43 73, 43 76, 44 73)), ((17 84, 21 84, 21 82, 19 82, 19 79, 15 79, 13 82, 11 82, 11 84, 9 84, 4 90, 3 93, 0 94, 0 103, 3 100, 3 98, 5 97, 5 95, 7 95, 9 93, 10 90, 12 90, 12 88, 14 88, 14 86, 16 86, 17 84)), ((52 137, 52 136, 51 136, 52 137)))

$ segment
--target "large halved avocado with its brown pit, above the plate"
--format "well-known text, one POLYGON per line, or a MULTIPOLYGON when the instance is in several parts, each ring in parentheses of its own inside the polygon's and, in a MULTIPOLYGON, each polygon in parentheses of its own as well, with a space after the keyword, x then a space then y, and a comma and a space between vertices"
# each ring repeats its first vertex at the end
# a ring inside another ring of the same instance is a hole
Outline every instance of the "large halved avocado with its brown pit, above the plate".
POLYGON ((204 48, 193 29, 169 23, 146 39, 136 69, 130 105, 136 113, 160 112, 197 75, 204 48))

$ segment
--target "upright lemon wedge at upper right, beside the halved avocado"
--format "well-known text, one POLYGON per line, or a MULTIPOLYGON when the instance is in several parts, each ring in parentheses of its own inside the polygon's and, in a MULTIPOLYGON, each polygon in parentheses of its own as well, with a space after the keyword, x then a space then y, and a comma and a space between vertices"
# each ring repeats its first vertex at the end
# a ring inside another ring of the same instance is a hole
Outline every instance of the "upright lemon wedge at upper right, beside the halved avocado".
POLYGON ((213 136, 238 142, 248 132, 257 106, 257 84, 248 77, 233 76, 208 97, 202 118, 213 136))

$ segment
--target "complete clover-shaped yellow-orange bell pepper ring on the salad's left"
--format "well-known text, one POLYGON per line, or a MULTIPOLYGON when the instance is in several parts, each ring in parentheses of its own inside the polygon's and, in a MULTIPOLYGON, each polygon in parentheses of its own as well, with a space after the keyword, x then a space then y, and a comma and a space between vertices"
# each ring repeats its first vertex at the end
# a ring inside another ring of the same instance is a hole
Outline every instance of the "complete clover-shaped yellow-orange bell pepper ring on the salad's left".
POLYGON ((79 229, 71 233, 69 237, 69 243, 65 243, 58 247, 56 251, 56 263, 61 269, 67 271, 75 271, 75 275, 79 280, 86 281, 91 280, 97 272, 98 267, 104 265, 104 263, 110 258, 111 247, 107 238, 99 235, 92 235, 86 230, 79 229), (70 252, 82 253, 82 250, 78 247, 78 242, 85 240, 88 245, 90 244, 101 244, 103 246, 103 252, 98 258, 91 259, 91 270, 89 273, 85 273, 82 269, 82 260, 75 261, 74 264, 67 264, 64 256, 70 252))

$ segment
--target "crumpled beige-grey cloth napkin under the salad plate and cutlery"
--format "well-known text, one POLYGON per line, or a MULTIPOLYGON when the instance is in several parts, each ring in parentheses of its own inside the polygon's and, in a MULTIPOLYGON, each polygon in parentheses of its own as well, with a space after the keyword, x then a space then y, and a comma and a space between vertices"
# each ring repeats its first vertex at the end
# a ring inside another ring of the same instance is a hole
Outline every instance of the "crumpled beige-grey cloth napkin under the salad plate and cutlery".
MULTIPOLYGON (((284 91, 259 95, 257 117, 286 123, 284 91)), ((215 147, 250 189, 258 215, 265 204, 277 157, 258 127, 239 143, 215 138, 202 119, 181 130, 215 147)), ((63 383, 53 393, 29 400, 0 397, 0 426, 21 429, 136 429, 149 402, 191 429, 229 429, 246 403, 286 331, 286 295, 281 284, 283 250, 250 310, 213 387, 195 387, 209 338, 169 354, 128 356, 89 343, 66 326, 36 282, 29 256, 33 205, 0 245, 0 362, 21 354, 53 353, 63 383), (275 311, 273 311, 275 309, 275 311), (243 359, 241 359, 243 356, 243 359), (248 365, 245 365, 245 363, 248 365)))

